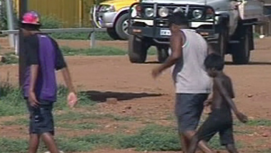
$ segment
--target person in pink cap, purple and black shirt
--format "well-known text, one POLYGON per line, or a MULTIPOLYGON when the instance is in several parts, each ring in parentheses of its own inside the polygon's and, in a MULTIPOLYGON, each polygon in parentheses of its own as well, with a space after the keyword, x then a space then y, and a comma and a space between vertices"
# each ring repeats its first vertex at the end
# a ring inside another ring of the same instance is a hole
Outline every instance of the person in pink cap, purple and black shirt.
POLYGON ((69 88, 68 104, 77 103, 76 91, 64 57, 57 43, 39 31, 39 14, 24 14, 21 28, 24 34, 25 75, 23 92, 30 112, 29 153, 37 153, 41 138, 50 153, 59 153, 54 141, 53 103, 56 102, 57 84, 55 70, 62 70, 69 88))

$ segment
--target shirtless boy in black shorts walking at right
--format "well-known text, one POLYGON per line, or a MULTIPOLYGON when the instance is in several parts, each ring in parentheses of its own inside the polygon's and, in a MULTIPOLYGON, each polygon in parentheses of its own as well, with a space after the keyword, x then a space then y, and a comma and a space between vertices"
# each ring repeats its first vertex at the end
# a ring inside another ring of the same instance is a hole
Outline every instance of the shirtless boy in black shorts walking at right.
POLYGON ((224 61, 222 57, 211 53, 206 57, 204 65, 208 75, 213 78, 212 112, 194 135, 188 153, 195 153, 200 140, 209 141, 217 132, 219 132, 221 145, 225 146, 229 153, 238 153, 233 139, 231 110, 243 123, 247 122, 247 116, 241 113, 232 101, 234 98, 232 81, 223 72, 224 61))

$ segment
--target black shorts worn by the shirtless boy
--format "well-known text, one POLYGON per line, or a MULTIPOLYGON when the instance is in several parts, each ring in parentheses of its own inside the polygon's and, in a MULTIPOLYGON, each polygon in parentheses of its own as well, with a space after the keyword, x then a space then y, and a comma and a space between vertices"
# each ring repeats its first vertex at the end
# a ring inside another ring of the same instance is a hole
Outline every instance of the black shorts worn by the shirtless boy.
POLYGON ((212 110, 212 113, 198 129, 196 136, 199 140, 208 142, 217 132, 219 132, 222 146, 234 144, 231 110, 212 110))

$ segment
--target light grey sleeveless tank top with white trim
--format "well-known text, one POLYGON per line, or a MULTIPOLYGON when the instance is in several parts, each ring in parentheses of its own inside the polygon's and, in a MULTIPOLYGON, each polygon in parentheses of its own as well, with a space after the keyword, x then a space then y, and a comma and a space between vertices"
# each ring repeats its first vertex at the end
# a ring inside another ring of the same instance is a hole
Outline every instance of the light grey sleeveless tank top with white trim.
MULTIPOLYGON (((172 67, 172 77, 178 94, 209 94, 211 78, 207 75, 204 60, 207 42, 192 29, 181 30, 185 36, 183 54, 172 67)), ((169 53, 171 53, 169 49, 169 53)))

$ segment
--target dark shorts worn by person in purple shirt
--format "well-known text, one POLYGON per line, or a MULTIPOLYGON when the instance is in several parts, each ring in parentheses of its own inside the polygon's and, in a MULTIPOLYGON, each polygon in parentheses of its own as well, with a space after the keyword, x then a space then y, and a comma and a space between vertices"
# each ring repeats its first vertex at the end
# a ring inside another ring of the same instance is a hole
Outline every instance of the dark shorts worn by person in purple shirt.
POLYGON ((39 101, 38 107, 33 107, 27 102, 30 113, 29 133, 54 135, 54 120, 52 115, 53 102, 39 101))

